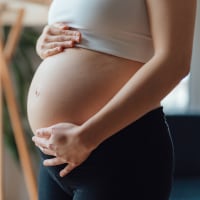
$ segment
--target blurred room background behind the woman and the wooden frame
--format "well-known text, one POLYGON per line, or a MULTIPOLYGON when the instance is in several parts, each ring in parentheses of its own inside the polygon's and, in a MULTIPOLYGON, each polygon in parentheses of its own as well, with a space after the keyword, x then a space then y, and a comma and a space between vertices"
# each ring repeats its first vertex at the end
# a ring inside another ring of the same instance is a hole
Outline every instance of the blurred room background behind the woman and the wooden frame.
MULTIPOLYGON (((191 72, 162 101, 175 147, 175 180, 170 200, 200 199, 200 0, 197 1, 191 72)), ((20 37, 8 68, 36 179, 38 152, 31 142, 32 133, 26 116, 26 95, 33 73, 41 62, 35 53, 35 43, 47 24, 49 4, 50 0, 0 0, 0 35, 4 45, 10 40, 9 32, 16 24, 19 9, 24 10, 20 37)), ((21 168, 8 104, 5 97, 2 99, 3 118, 0 123, 3 124, 4 147, 1 153, 4 162, 1 167, 3 166, 4 199, 27 200, 30 199, 30 190, 27 189, 26 175, 21 168)))

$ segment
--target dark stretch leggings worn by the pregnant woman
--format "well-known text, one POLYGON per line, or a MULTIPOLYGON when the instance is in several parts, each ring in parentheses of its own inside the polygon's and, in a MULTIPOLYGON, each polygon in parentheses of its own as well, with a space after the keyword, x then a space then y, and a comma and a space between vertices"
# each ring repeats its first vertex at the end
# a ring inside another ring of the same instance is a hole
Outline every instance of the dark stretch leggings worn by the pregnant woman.
POLYGON ((110 137, 61 178, 64 166, 41 164, 39 200, 168 200, 173 145, 162 107, 110 137))

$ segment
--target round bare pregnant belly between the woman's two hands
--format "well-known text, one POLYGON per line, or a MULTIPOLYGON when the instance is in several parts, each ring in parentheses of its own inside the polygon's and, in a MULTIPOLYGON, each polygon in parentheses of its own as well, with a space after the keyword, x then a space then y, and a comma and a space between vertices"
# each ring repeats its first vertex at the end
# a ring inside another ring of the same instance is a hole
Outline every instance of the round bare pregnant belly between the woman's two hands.
POLYGON ((28 119, 33 132, 58 122, 82 124, 141 65, 78 48, 45 59, 33 77, 28 94, 28 119))

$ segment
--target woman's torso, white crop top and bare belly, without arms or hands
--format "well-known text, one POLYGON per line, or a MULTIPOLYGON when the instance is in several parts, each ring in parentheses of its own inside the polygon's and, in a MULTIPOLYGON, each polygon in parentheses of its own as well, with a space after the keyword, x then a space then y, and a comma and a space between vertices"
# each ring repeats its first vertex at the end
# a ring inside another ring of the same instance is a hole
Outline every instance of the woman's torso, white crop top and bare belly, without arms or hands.
POLYGON ((36 71, 28 95, 33 132, 58 122, 84 123, 153 54, 145 0, 54 0, 54 22, 66 22, 83 37, 79 48, 45 59, 36 71))

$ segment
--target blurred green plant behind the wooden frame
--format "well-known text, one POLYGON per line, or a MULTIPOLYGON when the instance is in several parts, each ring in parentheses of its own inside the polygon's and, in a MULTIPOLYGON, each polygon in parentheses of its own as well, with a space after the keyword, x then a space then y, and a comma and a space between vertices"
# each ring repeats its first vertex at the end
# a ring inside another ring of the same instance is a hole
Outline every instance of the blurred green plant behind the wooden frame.
MULTIPOLYGON (((6 26, 3 29, 5 36, 8 35, 10 27, 6 26)), ((33 57, 35 54, 35 44, 39 36, 39 32, 32 27, 25 27, 21 33, 20 41, 18 42, 17 49, 14 56, 9 64, 9 69, 12 77, 12 83, 15 89, 15 95, 19 108, 19 114, 22 121, 25 137, 27 139, 28 148, 34 151, 33 144, 31 142, 31 130, 27 121, 26 112, 26 98, 34 74, 34 61, 33 57)), ((4 138, 5 144, 9 147, 14 158, 18 160, 18 152, 16 143, 14 140, 13 130, 10 123, 9 113, 6 105, 6 101, 3 102, 3 120, 4 120, 4 138)))

